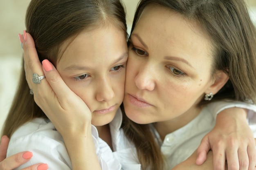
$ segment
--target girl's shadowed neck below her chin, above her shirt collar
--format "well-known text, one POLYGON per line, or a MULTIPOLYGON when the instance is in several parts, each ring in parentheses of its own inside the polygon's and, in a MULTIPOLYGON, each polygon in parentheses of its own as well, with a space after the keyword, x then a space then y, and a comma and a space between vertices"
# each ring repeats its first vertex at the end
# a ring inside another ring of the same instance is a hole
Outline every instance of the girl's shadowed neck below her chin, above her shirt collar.
POLYGON ((103 141, 105 141, 108 144, 108 146, 110 146, 111 150, 113 150, 109 124, 103 126, 96 126, 96 128, 98 130, 99 137, 103 141))

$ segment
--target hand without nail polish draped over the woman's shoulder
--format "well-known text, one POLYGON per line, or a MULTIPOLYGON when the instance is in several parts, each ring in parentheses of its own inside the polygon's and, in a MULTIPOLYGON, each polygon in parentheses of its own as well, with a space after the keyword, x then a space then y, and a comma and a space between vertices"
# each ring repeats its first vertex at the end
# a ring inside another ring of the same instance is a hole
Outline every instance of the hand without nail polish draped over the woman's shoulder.
POLYGON ((219 113, 216 126, 198 147, 196 163, 201 165, 207 152, 213 150, 214 170, 224 170, 225 160, 228 170, 254 170, 255 140, 246 117, 247 110, 242 108, 229 108, 219 113))

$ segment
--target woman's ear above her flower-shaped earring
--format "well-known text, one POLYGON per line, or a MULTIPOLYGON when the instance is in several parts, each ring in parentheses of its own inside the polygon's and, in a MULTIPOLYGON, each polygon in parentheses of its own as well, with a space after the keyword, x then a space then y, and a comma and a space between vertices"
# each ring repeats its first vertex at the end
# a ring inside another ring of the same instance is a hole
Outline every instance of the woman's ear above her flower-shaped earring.
POLYGON ((223 71, 217 71, 214 76, 213 84, 205 91, 205 94, 213 93, 215 95, 227 83, 229 76, 223 71))

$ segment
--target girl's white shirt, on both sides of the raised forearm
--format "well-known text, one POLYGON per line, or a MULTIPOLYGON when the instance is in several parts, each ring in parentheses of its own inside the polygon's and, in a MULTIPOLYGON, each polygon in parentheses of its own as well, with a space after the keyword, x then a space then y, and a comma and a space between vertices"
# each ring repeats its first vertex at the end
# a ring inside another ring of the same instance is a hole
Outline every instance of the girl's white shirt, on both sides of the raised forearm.
MULTIPOLYGON (((121 170, 121 163, 124 170, 140 170, 136 148, 125 139, 124 132, 120 129, 121 121, 122 113, 119 108, 110 123, 114 152, 99 138, 97 128, 92 126, 94 146, 102 170, 121 170)), ((33 157, 16 170, 41 162, 47 163, 49 170, 72 170, 63 138, 48 119, 35 118, 13 133, 7 157, 25 150, 33 152, 33 157)))

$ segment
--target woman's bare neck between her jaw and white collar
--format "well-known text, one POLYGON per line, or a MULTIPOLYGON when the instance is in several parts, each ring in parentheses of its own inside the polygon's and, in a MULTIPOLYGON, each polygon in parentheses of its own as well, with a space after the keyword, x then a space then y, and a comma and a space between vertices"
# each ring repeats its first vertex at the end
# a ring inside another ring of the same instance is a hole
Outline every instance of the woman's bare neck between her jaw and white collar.
POLYGON ((190 121, 195 119, 195 117, 197 117, 200 114, 201 110, 202 108, 193 108, 188 110, 186 113, 183 113, 182 115, 175 117, 173 119, 154 123, 155 129, 159 133, 159 136, 162 139, 162 141, 164 141, 166 135, 182 128, 190 121))

